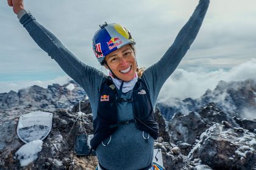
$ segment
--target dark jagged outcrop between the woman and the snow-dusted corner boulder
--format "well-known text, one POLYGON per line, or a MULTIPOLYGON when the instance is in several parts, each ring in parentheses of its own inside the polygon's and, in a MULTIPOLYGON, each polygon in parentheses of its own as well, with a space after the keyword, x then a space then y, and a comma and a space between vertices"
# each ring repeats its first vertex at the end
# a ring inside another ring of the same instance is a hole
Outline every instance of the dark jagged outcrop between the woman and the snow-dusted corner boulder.
MULTIPOLYGON (((227 127, 240 128, 237 123, 229 115, 222 112, 214 103, 208 103, 197 114, 190 112, 189 114, 174 114, 172 120, 169 121, 169 135, 171 142, 177 144, 188 143, 193 145, 199 136, 215 123, 225 124, 227 127)), ((189 148, 180 148, 182 154, 187 155, 189 148)))

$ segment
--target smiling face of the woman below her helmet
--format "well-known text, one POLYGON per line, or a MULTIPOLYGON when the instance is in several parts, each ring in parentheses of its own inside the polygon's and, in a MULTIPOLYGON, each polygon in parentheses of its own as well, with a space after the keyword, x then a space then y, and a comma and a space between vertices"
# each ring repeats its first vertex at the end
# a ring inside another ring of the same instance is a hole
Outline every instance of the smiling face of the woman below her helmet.
MULTIPOLYGON (((137 63, 129 44, 105 56, 105 61, 116 77, 121 80, 130 81, 134 78, 137 63)), ((106 65, 105 67, 108 69, 106 65)))

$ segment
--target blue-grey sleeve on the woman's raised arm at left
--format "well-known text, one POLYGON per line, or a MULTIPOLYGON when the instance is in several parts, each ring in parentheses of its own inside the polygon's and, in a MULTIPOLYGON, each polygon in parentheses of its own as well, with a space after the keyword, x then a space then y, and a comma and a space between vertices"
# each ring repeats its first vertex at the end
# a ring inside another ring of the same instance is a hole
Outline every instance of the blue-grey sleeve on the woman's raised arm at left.
POLYGON ((20 22, 38 46, 48 53, 69 77, 80 84, 89 97, 90 94, 93 95, 92 89, 101 84, 104 73, 79 61, 73 53, 63 46, 59 39, 39 24, 30 13, 23 15, 20 22))

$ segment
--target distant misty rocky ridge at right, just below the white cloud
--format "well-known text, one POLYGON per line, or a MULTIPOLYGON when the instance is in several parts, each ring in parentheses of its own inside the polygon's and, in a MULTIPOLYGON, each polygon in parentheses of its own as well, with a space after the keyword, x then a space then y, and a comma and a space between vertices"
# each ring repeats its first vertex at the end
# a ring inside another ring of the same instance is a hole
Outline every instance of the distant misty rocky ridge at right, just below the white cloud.
MULTIPOLYGON (((167 121, 171 120, 172 115, 177 112, 182 114, 199 112, 201 107, 208 103, 215 103, 229 117, 244 118, 247 116, 244 112, 245 109, 251 110, 252 113, 256 110, 255 92, 255 80, 231 81, 229 83, 219 81, 214 90, 208 89, 202 97, 186 98, 185 100, 175 98, 171 99, 170 103, 157 103, 157 106, 160 107, 163 117, 167 121)), ((254 118, 256 117, 254 116, 254 118)))

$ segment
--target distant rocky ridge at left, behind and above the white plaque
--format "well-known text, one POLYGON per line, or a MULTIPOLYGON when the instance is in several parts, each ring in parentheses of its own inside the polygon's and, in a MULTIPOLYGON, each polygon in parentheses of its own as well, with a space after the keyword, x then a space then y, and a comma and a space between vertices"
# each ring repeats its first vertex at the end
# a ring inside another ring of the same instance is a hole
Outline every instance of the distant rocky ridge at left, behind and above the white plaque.
POLYGON ((18 93, 10 91, 9 93, 0 94, 0 109, 10 109, 11 107, 34 106, 41 109, 54 111, 55 109, 65 108, 76 104, 79 100, 85 98, 85 91, 74 81, 60 86, 53 84, 44 89, 40 86, 32 86, 21 89, 18 93), (74 90, 66 89, 68 84, 74 84, 74 90))

